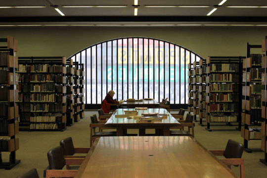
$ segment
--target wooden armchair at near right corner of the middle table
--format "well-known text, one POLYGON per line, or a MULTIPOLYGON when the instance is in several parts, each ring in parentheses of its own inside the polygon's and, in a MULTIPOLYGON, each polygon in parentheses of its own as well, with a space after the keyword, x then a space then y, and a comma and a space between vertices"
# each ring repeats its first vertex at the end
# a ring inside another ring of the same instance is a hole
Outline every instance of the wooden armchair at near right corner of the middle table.
POLYGON ((195 136, 193 123, 194 116, 187 114, 185 120, 179 120, 180 126, 170 127, 170 129, 180 129, 180 130, 170 130, 171 136, 195 136), (184 127, 188 128, 188 131, 184 130, 184 127))

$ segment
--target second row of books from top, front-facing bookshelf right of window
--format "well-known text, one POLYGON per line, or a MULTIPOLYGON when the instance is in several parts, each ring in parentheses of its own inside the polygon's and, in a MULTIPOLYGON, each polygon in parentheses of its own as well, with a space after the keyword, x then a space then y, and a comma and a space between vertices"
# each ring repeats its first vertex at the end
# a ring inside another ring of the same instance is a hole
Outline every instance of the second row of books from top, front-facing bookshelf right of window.
POLYGON ((213 73, 210 76, 207 76, 207 83, 209 80, 211 82, 239 82, 239 75, 231 74, 231 73, 213 73))

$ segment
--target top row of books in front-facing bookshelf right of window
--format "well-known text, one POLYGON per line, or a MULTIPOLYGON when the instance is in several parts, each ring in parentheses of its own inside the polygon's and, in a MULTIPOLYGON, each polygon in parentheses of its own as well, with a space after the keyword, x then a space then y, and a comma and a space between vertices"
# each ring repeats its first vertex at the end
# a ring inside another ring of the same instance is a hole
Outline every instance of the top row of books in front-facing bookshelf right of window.
POLYGON ((239 72, 237 63, 212 63, 211 72, 239 72))

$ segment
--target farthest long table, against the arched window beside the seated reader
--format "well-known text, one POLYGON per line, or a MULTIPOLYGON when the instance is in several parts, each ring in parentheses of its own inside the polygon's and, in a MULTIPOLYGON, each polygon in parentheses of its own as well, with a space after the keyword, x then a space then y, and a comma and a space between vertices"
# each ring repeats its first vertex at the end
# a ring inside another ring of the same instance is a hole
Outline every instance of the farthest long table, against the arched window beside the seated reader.
POLYGON ((135 107, 147 107, 147 108, 158 108, 160 104, 156 100, 142 100, 135 102, 122 102, 122 107, 135 108, 135 107))

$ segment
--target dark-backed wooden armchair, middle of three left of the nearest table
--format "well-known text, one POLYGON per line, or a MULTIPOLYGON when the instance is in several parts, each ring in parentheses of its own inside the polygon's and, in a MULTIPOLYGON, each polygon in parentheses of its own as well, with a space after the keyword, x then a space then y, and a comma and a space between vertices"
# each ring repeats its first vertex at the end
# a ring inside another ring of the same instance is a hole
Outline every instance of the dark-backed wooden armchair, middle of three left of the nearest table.
MULTIPOLYGON (((63 150, 61 146, 58 146, 58 147, 55 147, 49 150, 47 152, 47 159, 48 159, 49 166, 45 168, 44 178, 47 178, 46 173, 48 170, 50 170, 49 175, 51 175, 52 173, 57 174, 58 172, 56 171, 62 170, 62 168, 65 165, 81 165, 82 162, 84 161, 84 158, 64 158, 64 154, 63 154, 63 150), (51 170, 56 170, 56 171, 51 171, 51 170)), ((79 169, 79 167, 77 166, 69 167, 69 169, 70 168, 76 169, 76 170, 79 169)), ((57 176, 53 176, 53 177, 57 177, 57 176)))

